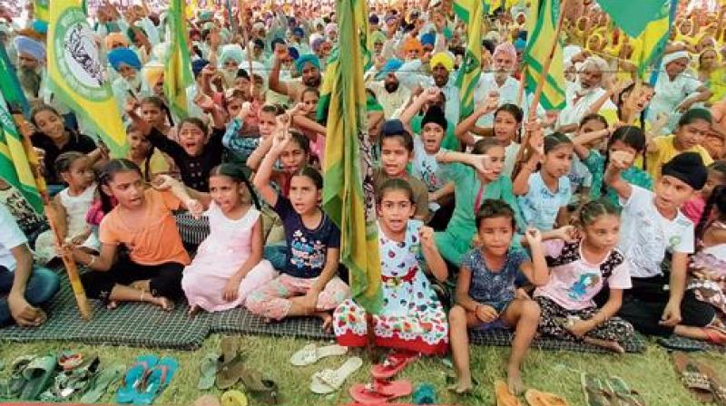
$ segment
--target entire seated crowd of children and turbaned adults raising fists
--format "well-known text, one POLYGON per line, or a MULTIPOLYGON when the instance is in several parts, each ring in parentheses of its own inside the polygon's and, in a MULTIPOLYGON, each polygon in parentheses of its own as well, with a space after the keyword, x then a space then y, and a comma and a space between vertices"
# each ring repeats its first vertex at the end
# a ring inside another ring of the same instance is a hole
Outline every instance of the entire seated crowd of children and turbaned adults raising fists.
POLYGON ((0 322, 46 321, 42 304, 59 288, 47 264, 67 250, 88 269, 86 294, 109 309, 170 310, 185 298, 191 313, 316 316, 346 346, 366 345, 372 326, 378 346, 398 350, 392 362, 450 351, 458 392, 472 388, 472 329, 515 331, 511 391, 537 334, 616 353, 635 331, 726 343, 719 10, 679 10, 649 82, 637 74, 639 40, 594 1, 571 2, 566 105, 545 111, 521 91, 527 2, 500 7, 484 19, 476 106, 462 118, 466 24, 452 2, 371 5, 364 77, 383 302, 370 322, 320 207, 326 128, 316 111, 343 27, 333 8, 304 3, 251 5, 232 13, 236 24, 223 6, 198 10, 186 26, 186 117, 163 90, 167 15, 100 5, 93 31, 129 146, 113 159, 54 98, 46 26, 0 24, 65 238, 57 247, 42 215, 2 182, 0 322), (180 210, 209 222, 193 257, 180 210))

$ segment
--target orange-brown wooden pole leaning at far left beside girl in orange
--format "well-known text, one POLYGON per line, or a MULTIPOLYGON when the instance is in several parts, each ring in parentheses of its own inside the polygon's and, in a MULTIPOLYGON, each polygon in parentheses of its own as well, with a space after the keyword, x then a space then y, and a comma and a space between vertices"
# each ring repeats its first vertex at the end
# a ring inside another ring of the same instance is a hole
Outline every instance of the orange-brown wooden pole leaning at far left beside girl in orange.
MULTIPOLYGON (((48 224, 51 227, 51 231, 55 237, 55 245, 57 247, 63 247, 64 238, 58 233, 58 227, 55 225, 58 213, 51 204, 51 198, 48 195, 48 189, 45 187, 45 179, 43 174, 40 172, 40 160, 38 160, 37 154, 33 149, 33 144, 30 142, 31 130, 30 125, 25 121, 22 113, 13 112, 13 120, 15 121, 15 127, 23 135, 23 146, 25 148, 25 154, 28 157, 30 168, 33 171, 35 184, 38 187, 38 192, 41 198, 43 198, 43 208, 45 212, 45 218, 48 219, 48 224)), ((91 319, 91 307, 88 305, 88 299, 81 283, 81 277, 78 275, 78 267, 75 266, 73 256, 71 256, 65 250, 61 250, 61 259, 65 266, 65 272, 68 274, 68 279, 71 281, 71 288, 74 291, 75 303, 78 305, 78 311, 81 313, 83 320, 88 321, 91 319)))

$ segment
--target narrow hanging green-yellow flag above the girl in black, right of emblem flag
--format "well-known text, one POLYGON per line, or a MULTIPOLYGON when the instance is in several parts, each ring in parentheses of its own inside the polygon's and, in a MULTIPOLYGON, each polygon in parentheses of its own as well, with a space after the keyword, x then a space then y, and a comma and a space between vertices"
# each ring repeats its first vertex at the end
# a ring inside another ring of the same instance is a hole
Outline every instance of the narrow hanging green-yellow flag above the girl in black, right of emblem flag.
POLYGON ((172 53, 164 64, 164 94, 169 107, 179 117, 187 116, 187 88, 194 84, 191 74, 191 59, 187 47, 187 27, 184 21, 184 0, 169 2, 170 44, 172 53))

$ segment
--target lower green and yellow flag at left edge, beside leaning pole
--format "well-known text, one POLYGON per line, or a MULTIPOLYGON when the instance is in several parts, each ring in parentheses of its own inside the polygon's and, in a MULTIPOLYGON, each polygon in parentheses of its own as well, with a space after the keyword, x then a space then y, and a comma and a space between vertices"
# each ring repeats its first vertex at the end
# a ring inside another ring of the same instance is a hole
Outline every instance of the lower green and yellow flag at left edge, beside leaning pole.
POLYGON ((25 154, 23 136, 15 127, 3 93, 0 92, 0 178, 18 189, 37 213, 43 213, 30 161, 25 154))

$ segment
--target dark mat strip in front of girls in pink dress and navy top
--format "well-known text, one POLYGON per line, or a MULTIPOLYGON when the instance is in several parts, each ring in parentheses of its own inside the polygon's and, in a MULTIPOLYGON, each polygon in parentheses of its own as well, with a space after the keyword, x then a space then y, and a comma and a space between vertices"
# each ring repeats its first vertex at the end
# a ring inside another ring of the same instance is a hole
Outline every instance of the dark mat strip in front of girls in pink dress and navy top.
POLYGON ((212 314, 212 333, 243 333, 289 336, 318 340, 334 339, 332 333, 325 333, 317 317, 294 317, 281 322, 265 323, 260 316, 243 308, 212 314))

